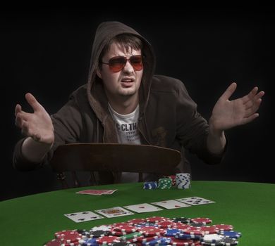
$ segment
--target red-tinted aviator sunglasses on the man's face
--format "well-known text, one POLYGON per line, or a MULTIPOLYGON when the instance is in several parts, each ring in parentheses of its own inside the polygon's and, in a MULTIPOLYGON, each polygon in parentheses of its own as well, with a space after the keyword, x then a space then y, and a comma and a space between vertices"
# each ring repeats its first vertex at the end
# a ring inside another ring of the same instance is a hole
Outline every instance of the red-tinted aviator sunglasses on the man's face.
POLYGON ((127 58, 126 56, 114 56, 109 60, 109 63, 101 63, 109 65, 109 68, 112 72, 120 72, 121 70, 123 70, 123 67, 125 67, 128 60, 130 62, 130 65, 132 65, 132 67, 134 68, 134 70, 142 70, 142 56, 140 55, 130 56, 129 58, 127 58))

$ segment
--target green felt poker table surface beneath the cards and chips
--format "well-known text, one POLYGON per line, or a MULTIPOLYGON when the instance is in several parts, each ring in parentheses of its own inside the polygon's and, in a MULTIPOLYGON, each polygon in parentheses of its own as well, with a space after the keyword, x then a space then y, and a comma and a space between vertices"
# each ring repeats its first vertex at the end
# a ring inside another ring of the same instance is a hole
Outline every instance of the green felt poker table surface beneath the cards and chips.
POLYGON ((242 233, 238 245, 275 245, 275 184, 192 181, 189 189, 144 190, 143 183, 70 188, 0 202, 0 245, 43 245, 62 230, 87 229, 135 218, 207 217, 242 233), (77 194, 85 189, 117 189, 111 195, 77 194), (179 209, 75 223, 63 214, 197 196, 214 201, 179 209))

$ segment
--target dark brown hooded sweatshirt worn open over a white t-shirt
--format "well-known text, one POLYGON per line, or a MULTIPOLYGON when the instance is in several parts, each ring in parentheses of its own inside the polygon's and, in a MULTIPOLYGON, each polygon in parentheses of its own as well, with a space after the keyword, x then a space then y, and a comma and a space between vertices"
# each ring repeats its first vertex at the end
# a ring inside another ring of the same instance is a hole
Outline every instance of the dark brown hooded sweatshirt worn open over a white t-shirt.
MULTIPOLYGON (((207 150, 207 121, 197 112, 183 82, 164 75, 154 75, 156 59, 151 44, 131 27, 121 22, 103 22, 97 28, 87 84, 73 91, 68 102, 51 115, 54 124, 54 145, 40 164, 23 157, 18 141, 13 153, 13 165, 22 171, 49 164, 54 150, 66 143, 118 143, 116 125, 110 115, 102 80, 97 77, 99 56, 106 44, 118 34, 133 34, 142 40, 143 75, 139 89, 138 132, 140 141, 181 151, 181 163, 176 172, 190 172, 185 149, 208 164, 221 162, 224 155, 213 155, 207 150)), ((99 183, 113 183, 114 175, 99 173, 99 183)))

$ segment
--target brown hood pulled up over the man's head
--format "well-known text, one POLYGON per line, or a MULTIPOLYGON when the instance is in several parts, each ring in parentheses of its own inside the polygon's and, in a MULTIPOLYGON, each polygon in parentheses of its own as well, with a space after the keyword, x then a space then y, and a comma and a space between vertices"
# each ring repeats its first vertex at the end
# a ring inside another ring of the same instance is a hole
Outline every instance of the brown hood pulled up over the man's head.
POLYGON ((133 28, 117 21, 102 22, 98 27, 92 45, 92 56, 90 61, 90 72, 87 82, 87 96, 91 107, 97 114, 100 121, 104 122, 104 118, 108 115, 108 101, 102 80, 97 77, 97 67, 99 65, 99 56, 106 44, 116 37, 118 34, 133 34, 142 41, 143 75, 139 90, 140 100, 140 116, 145 112, 147 101, 149 99, 149 91, 154 74, 155 57, 151 44, 142 37, 133 28))

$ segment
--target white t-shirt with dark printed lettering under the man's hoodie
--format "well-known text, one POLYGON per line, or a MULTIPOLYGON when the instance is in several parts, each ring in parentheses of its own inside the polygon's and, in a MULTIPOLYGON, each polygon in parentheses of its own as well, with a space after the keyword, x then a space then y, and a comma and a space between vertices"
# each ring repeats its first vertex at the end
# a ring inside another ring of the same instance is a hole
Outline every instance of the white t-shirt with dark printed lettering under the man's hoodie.
MULTIPOLYGON (((140 144, 140 134, 138 132, 138 117, 140 115, 139 105, 133 112, 127 115, 118 114, 109 104, 109 111, 116 123, 116 133, 119 143, 140 144)), ((130 160, 129 160, 130 164, 130 160)), ((152 174, 143 174, 144 181, 152 181, 155 176, 152 174)), ((138 182, 138 173, 123 172, 121 183, 138 182)))

